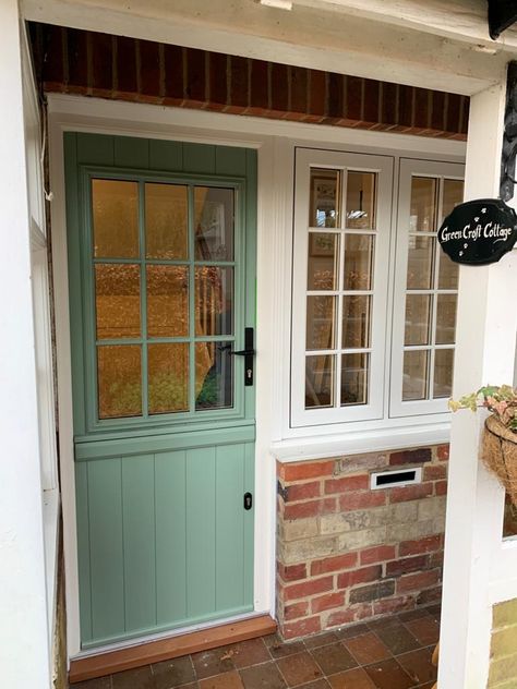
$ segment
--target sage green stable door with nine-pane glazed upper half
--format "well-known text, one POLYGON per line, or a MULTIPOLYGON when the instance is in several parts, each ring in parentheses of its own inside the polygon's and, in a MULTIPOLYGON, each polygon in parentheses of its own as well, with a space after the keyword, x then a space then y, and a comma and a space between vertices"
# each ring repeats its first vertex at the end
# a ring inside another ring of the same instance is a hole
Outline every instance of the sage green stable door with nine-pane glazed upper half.
POLYGON ((256 155, 80 133, 64 152, 92 648, 253 609, 254 387, 232 352, 254 326, 256 155))

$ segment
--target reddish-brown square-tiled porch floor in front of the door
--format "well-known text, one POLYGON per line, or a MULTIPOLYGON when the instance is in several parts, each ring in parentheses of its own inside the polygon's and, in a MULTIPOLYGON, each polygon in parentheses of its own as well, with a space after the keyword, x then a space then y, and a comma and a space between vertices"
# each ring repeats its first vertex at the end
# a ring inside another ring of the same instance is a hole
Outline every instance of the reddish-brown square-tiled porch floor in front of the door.
POLYGON ((344 627, 302 641, 243 641, 72 689, 430 689, 440 607, 344 627))

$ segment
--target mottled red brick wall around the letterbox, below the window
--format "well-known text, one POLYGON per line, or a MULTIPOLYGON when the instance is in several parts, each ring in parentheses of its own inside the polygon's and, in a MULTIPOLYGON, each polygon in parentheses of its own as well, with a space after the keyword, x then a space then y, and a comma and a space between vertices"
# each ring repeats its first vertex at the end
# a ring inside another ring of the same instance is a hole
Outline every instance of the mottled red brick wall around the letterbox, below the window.
POLYGON ((286 639, 441 597, 448 446, 277 464, 277 616, 286 639), (422 483, 370 489, 370 473, 422 483))

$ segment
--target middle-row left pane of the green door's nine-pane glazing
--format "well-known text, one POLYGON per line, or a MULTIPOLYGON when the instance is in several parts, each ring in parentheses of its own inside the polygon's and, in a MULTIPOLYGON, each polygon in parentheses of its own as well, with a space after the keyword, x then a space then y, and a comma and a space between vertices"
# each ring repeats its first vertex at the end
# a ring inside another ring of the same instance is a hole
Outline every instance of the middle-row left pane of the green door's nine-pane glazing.
POLYGON ((95 266, 97 339, 140 337, 140 266, 95 266))

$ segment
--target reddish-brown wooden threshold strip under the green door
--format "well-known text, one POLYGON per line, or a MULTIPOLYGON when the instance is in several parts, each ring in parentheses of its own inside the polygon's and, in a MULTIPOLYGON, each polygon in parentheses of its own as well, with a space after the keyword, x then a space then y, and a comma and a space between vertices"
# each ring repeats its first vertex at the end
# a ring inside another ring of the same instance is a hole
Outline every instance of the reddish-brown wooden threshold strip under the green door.
POLYGON ((71 661, 69 681, 84 681, 94 679, 112 673, 120 673, 124 669, 149 665, 168 661, 180 655, 196 653, 197 651, 208 651, 228 643, 237 643, 247 639, 255 639, 276 631, 276 622, 269 615, 261 615, 241 621, 229 622, 191 631, 168 639, 158 641, 147 641, 128 649, 108 651, 98 655, 89 655, 71 661))

